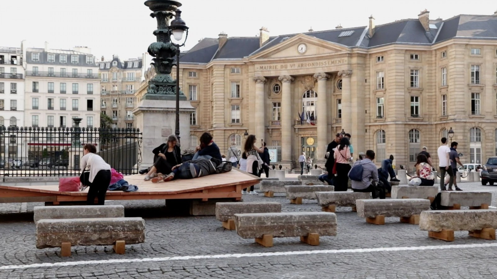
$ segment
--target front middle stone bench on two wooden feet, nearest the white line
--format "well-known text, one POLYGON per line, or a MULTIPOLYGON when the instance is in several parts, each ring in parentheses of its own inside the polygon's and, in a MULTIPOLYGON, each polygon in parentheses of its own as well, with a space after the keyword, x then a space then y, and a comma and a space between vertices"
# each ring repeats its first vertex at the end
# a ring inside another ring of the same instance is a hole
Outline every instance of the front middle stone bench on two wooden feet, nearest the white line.
POLYGON ((336 235, 336 215, 331 212, 280 212, 235 214, 237 233, 255 238, 264 247, 273 246, 273 237, 295 237, 309 245, 319 245, 319 236, 336 235))

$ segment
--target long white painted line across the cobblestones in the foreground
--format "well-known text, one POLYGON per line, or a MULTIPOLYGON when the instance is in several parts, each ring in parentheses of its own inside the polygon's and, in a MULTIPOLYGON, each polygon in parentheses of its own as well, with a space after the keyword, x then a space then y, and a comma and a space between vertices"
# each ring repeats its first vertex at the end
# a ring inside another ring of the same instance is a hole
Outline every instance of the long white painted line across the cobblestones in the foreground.
POLYGON ((340 253, 397 252, 397 251, 465 249, 465 248, 485 248, 485 247, 497 247, 497 243, 418 246, 418 247, 384 247, 384 248, 341 249, 341 250, 288 251, 288 252, 221 254, 221 255, 198 255, 198 256, 177 256, 177 257, 164 257, 164 258, 115 259, 115 260, 100 260, 100 261, 75 261, 75 262, 42 263, 42 264, 17 265, 17 266, 16 265, 1 266, 0 270, 16 270, 16 269, 29 269, 29 268, 51 268, 51 267, 67 267, 67 266, 82 266, 82 265, 100 265, 100 264, 113 264, 113 263, 122 264, 122 263, 167 262, 167 261, 199 260, 199 259, 274 257, 274 256, 295 256, 295 255, 313 255, 313 254, 340 254, 340 253))

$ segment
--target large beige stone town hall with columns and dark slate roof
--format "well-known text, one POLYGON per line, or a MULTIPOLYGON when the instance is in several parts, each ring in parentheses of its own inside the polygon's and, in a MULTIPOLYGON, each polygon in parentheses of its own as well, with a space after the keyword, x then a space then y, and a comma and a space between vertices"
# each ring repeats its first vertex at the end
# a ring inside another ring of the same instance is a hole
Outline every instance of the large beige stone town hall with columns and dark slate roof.
POLYGON ((354 157, 373 149, 378 163, 393 154, 396 165, 413 167, 422 146, 438 163, 452 128, 463 163, 497 154, 497 12, 430 20, 424 10, 383 25, 371 16, 355 28, 259 31, 205 38, 182 54, 181 87, 196 108, 191 143, 209 131, 227 152, 248 132, 285 167, 301 151, 323 165, 327 144, 344 131, 354 157))

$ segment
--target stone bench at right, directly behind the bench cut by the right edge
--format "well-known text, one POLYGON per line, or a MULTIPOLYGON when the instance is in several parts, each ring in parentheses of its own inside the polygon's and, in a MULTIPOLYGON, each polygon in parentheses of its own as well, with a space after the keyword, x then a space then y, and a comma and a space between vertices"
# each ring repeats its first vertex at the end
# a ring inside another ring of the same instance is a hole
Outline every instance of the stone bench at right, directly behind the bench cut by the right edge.
POLYGON ((442 191, 440 205, 448 209, 489 209, 492 203, 492 193, 472 191, 442 191))

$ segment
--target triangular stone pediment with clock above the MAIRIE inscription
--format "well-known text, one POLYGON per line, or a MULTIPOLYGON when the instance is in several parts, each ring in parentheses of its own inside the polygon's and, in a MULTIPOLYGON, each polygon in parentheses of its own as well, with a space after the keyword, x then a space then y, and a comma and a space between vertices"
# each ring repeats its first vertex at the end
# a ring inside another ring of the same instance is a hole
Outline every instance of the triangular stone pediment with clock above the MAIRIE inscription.
MULTIPOLYGON (((279 37, 278 40, 283 40, 279 37)), ((250 59, 271 59, 271 58, 296 58, 306 56, 330 55, 349 51, 347 46, 321 40, 305 34, 298 34, 288 38, 260 53, 256 53, 250 59), (299 53, 298 47, 305 44, 306 51, 299 53)))

